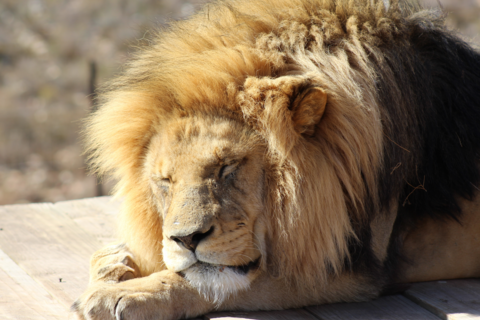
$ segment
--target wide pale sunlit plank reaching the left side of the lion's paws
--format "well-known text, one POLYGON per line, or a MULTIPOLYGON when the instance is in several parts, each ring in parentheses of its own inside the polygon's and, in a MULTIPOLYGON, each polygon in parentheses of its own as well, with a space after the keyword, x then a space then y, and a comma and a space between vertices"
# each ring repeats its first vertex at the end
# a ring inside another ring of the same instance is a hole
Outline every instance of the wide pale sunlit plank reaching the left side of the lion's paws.
POLYGON ((103 245, 52 204, 0 207, 0 248, 65 307, 86 289, 103 245))

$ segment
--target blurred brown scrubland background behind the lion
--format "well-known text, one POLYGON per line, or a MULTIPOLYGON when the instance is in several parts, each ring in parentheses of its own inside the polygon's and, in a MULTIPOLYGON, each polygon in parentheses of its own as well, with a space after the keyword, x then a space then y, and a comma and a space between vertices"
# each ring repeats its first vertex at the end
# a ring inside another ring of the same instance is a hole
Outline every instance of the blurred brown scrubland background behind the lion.
MULTIPOLYGON (((0 205, 96 196, 79 139, 92 108, 92 63, 96 82, 105 82, 149 27, 186 18, 204 2, 0 0, 0 205)), ((449 26, 479 48, 480 0, 440 3, 449 26)))

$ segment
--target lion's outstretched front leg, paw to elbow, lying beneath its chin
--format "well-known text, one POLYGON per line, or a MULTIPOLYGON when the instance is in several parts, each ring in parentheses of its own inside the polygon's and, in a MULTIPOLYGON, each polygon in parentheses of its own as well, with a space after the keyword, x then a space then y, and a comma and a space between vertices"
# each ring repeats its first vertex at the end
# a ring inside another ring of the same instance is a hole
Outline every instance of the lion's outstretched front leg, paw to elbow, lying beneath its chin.
POLYGON ((196 317, 214 310, 278 310, 336 301, 359 301, 378 295, 379 288, 354 274, 329 282, 302 286, 262 274, 247 290, 223 302, 208 300, 187 280, 164 270, 117 283, 97 283, 72 306, 81 320, 174 320, 196 317), (348 289, 346 289, 348 288, 348 289))

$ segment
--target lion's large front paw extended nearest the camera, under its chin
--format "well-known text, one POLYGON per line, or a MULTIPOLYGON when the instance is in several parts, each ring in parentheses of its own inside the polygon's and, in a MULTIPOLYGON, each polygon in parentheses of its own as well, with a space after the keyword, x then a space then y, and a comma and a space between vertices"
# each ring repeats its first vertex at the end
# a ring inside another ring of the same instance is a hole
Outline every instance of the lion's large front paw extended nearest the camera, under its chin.
POLYGON ((212 309, 180 275, 167 270, 124 282, 93 283, 71 307, 77 320, 174 320, 212 309))

